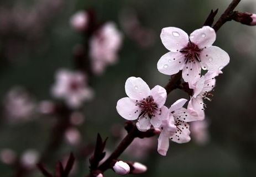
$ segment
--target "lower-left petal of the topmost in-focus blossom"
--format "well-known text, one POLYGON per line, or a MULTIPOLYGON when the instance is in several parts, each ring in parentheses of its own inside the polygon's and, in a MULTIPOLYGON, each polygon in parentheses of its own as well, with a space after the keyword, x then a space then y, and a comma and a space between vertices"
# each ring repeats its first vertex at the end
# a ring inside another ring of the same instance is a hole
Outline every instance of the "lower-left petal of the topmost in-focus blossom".
POLYGON ((185 63, 184 55, 180 52, 168 52, 158 61, 158 71, 163 74, 173 75, 179 72, 185 63))

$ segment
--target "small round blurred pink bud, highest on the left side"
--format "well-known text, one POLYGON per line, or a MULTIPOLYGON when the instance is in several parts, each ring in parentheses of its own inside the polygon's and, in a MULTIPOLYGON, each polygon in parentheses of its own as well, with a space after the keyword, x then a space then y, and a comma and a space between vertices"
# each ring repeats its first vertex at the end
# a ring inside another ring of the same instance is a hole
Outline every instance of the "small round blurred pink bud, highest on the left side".
POLYGON ((83 31, 88 25, 88 15, 85 11, 75 13, 70 19, 71 26, 77 31, 83 31))

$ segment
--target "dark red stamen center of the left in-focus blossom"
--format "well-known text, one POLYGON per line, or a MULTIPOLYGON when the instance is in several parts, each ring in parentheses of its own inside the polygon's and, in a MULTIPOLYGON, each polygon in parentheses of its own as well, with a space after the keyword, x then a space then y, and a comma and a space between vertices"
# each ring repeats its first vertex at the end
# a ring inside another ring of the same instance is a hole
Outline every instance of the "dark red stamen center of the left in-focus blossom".
POLYGON ((158 108, 158 105, 154 102, 152 96, 143 98, 141 101, 136 100, 136 106, 139 106, 140 110, 142 111, 139 117, 148 115, 151 119, 151 117, 155 116, 155 114, 161 115, 161 109, 158 108))

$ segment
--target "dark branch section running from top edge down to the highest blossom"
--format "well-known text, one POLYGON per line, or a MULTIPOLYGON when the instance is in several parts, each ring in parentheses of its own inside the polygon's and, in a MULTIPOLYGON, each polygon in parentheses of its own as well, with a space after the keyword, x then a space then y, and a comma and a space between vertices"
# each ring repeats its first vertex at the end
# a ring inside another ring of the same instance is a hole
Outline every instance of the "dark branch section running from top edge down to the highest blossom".
POLYGON ((238 3, 240 2, 241 0, 233 0, 231 2, 231 4, 229 4, 228 8, 224 11, 224 13, 221 15, 221 17, 217 20, 217 22, 215 23, 215 25, 213 26, 213 29, 217 32, 221 26, 232 20, 231 16, 233 15, 233 10, 234 8, 237 7, 238 3))

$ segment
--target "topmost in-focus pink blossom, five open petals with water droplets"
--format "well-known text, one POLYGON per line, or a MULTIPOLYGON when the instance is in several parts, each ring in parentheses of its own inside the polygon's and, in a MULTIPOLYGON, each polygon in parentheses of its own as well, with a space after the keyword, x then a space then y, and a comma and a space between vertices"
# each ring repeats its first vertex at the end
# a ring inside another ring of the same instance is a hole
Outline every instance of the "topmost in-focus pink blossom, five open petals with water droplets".
POLYGON ((170 52, 158 61, 159 72, 172 75, 182 70, 182 77, 189 85, 198 81, 201 68, 215 72, 229 63, 228 53, 212 46, 216 33, 210 26, 203 26, 190 36, 179 28, 163 28, 160 37, 170 52))

